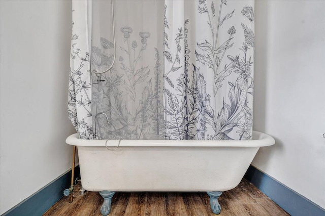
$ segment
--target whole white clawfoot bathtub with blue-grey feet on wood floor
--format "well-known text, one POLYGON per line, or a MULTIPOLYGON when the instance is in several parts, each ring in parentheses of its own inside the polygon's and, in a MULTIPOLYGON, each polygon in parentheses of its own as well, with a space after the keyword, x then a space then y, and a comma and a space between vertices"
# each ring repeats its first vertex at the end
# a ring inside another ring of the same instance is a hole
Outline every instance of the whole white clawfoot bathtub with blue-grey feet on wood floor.
POLYGON ((222 192, 240 183, 259 147, 275 143, 255 131, 250 141, 122 140, 115 151, 119 140, 66 142, 78 146, 82 186, 103 196, 103 215, 116 191, 207 191, 218 214, 222 192))

